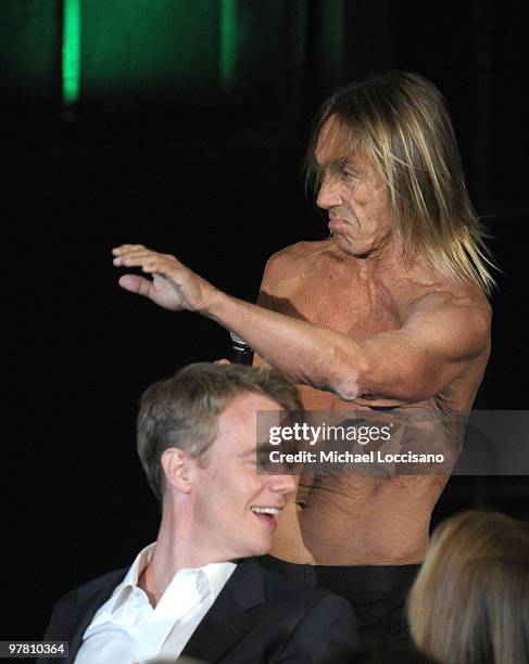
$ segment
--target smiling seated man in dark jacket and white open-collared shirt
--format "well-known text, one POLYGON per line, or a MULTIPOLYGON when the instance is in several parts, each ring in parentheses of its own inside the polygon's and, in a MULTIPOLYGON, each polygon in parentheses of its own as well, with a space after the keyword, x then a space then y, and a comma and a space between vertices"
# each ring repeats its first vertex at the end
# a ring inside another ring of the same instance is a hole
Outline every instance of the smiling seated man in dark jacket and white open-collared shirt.
POLYGON ((256 472, 266 410, 301 410, 295 387, 240 365, 191 365, 147 390, 138 454, 162 503, 158 540, 59 601, 45 639, 68 641, 66 661, 306 664, 354 640, 345 599, 251 558, 270 549, 297 488, 292 475, 256 472))

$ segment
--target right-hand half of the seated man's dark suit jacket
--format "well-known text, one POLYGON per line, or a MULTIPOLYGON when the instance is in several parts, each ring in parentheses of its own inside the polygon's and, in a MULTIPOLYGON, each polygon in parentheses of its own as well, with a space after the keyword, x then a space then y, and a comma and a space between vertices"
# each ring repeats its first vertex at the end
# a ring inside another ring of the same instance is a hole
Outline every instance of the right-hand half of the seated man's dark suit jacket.
POLYGON ((354 640, 354 613, 344 598, 288 579, 275 571, 281 561, 263 558, 238 563, 186 655, 226 664, 308 664, 354 640))

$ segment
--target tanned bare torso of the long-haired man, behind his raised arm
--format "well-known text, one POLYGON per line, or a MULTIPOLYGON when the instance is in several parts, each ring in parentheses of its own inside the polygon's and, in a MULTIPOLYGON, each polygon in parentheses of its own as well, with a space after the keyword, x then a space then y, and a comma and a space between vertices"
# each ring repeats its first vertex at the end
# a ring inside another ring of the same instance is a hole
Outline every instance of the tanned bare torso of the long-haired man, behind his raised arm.
MULTIPOLYGON (((487 301, 477 290, 448 286, 418 270, 377 273, 362 259, 333 248, 332 241, 302 242, 273 259, 260 304, 363 340, 400 329, 407 308, 436 291, 468 301, 488 315, 487 301)), ((488 355, 489 347, 441 394, 401 407, 432 416, 468 410, 488 355)), ((380 396, 343 401, 331 392, 299 387, 308 410, 394 405, 380 396)), ((295 499, 284 510, 272 554, 324 565, 418 562, 428 544, 431 511, 446 481, 446 475, 303 476, 295 499)))

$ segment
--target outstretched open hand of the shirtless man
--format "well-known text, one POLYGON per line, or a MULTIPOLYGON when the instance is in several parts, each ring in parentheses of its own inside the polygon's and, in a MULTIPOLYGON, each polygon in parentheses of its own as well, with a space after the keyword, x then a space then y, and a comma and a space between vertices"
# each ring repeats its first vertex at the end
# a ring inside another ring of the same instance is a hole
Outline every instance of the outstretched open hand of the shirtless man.
POLYGON ((112 250, 116 267, 140 267, 152 281, 137 274, 124 274, 119 285, 149 297, 171 311, 204 311, 216 290, 177 258, 159 254, 141 244, 122 244, 112 250))

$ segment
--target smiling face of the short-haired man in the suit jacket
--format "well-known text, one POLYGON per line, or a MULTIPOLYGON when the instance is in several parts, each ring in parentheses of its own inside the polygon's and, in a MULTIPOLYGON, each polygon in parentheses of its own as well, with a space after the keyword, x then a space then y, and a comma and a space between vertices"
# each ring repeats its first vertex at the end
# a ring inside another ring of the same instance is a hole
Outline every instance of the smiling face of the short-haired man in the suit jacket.
POLYGON ((295 490, 292 475, 257 474, 256 411, 280 410, 259 394, 228 403, 205 468, 193 460, 193 529, 211 561, 262 556, 272 546, 280 510, 295 490), (266 510, 266 512, 264 512, 266 510))

